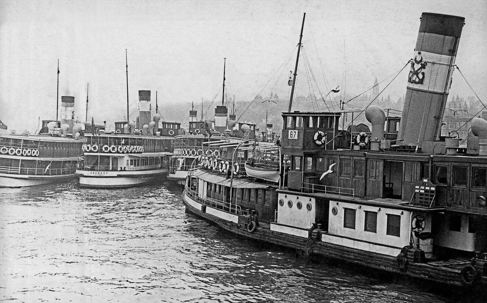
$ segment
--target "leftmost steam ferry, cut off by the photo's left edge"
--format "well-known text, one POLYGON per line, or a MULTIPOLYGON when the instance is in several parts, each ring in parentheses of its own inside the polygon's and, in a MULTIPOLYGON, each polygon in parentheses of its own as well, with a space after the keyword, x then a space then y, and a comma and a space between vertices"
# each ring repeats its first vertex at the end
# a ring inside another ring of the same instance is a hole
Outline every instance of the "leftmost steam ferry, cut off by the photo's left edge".
MULTIPOLYGON (((61 97, 61 121, 43 121, 38 134, 0 134, 0 187, 24 187, 75 178, 82 156, 75 98, 61 97)), ((6 128, 6 127, 5 127, 6 128)))

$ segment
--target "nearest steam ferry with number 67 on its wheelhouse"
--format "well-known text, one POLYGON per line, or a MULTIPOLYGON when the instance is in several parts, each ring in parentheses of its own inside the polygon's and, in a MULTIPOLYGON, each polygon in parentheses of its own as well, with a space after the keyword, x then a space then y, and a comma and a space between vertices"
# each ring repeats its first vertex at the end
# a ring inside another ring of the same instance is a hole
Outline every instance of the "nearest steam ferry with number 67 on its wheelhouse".
MULTIPOLYGON (((365 110, 371 131, 356 134, 339 128, 344 110, 291 112, 291 93, 281 178, 195 166, 183 194, 187 212, 306 257, 485 287, 487 121, 472 119, 468 149, 440 136, 464 20, 422 14, 397 133, 384 132, 378 106, 365 110)), ((231 167, 242 163, 241 146, 224 152, 231 167)))

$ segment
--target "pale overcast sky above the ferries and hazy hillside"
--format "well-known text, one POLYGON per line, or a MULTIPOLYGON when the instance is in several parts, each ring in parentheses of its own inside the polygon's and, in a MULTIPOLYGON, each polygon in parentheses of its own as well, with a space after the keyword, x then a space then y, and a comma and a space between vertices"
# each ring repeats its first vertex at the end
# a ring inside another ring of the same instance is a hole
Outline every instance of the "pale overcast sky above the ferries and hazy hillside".
MULTIPOLYGON (((486 0, 2 0, 0 120, 33 131, 38 117, 56 118, 57 59, 59 102, 75 96, 77 119, 84 121, 89 83, 88 119, 122 120, 126 49, 131 112, 139 89, 151 90, 153 103, 157 90, 161 110, 213 100, 224 57, 227 92, 237 102, 262 88, 264 97, 271 90, 285 97, 303 13, 304 52, 320 90, 327 92, 324 77, 342 85, 346 67, 347 94, 358 94, 413 56, 422 12, 466 18, 456 64, 485 103, 486 0)), ((307 95, 303 61, 297 94, 307 95)), ((473 95, 458 71, 453 76, 450 94, 473 95)), ((406 79, 403 71, 385 96, 402 96, 406 79)))

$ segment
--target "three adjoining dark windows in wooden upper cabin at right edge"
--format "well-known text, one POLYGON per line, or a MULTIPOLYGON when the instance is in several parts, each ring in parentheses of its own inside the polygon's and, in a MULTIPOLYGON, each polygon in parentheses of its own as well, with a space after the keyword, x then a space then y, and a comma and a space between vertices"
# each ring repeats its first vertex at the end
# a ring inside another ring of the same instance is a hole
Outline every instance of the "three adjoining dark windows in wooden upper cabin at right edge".
MULTIPOLYGON (((448 165, 434 165, 433 183, 448 184, 448 165)), ((451 185, 467 187, 468 185, 468 167, 453 165, 451 167, 451 185)), ((485 189, 487 187, 487 167, 471 168, 471 187, 485 189)))

